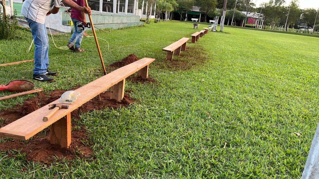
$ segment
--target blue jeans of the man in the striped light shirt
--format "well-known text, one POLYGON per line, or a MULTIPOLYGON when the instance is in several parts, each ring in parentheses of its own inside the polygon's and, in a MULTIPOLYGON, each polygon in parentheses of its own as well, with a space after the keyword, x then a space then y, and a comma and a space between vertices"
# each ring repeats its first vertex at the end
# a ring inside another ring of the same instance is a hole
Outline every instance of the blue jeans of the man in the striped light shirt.
POLYGON ((26 18, 32 32, 34 50, 34 75, 45 75, 49 67, 49 38, 45 24, 26 18))

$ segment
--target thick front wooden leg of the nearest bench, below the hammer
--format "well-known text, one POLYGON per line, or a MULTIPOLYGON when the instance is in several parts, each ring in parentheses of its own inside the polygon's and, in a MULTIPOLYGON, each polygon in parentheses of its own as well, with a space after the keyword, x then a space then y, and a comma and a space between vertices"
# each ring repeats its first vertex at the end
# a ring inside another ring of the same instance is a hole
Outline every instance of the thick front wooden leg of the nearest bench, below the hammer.
POLYGON ((69 148, 71 144, 71 113, 59 119, 50 126, 51 144, 61 148, 69 148))

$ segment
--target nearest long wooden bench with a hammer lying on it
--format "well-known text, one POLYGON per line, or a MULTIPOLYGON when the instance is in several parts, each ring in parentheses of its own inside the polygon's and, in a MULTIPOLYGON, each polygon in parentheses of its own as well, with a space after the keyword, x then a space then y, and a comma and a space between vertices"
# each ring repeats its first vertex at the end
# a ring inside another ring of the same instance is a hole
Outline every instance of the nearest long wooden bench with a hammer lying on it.
MULTIPOLYGON (((138 72, 138 76, 147 79, 148 66, 154 60, 155 59, 151 58, 143 58, 122 68, 116 69, 115 71, 76 89, 75 91, 80 93, 80 96, 73 104, 68 104, 69 109, 60 109, 48 121, 43 122, 43 116, 49 112, 49 104, 47 104, 2 127, 0 129, 0 136, 27 140, 51 125, 51 144, 56 144, 62 148, 68 148, 71 143, 71 112, 109 88, 111 88, 110 98, 121 101, 124 96, 125 78, 138 72)), ((58 100, 50 104, 57 103, 58 100)))

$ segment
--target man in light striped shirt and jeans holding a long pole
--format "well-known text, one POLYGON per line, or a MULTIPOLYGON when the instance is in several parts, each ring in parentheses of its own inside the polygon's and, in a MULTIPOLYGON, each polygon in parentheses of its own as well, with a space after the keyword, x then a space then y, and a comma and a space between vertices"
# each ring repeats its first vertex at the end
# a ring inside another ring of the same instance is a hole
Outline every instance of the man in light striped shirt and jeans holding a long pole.
MULTIPOLYGON (((79 6, 72 0, 63 0, 72 9, 91 15, 91 8, 79 6)), ((61 0, 25 0, 22 5, 21 14, 26 18, 32 32, 34 50, 33 79, 41 82, 53 82, 54 79, 48 75, 55 76, 56 72, 48 70, 49 66, 49 38, 47 28, 44 24, 45 18, 50 14, 58 13, 61 0)))

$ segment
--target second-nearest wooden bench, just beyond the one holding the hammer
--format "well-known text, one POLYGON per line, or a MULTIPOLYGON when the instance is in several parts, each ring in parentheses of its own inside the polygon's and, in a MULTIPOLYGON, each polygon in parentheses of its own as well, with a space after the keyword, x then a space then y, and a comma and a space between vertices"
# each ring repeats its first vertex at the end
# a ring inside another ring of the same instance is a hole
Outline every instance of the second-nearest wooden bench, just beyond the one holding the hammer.
POLYGON ((184 38, 178 40, 177 42, 174 42, 171 45, 163 48, 162 50, 167 52, 166 60, 173 60, 174 54, 180 55, 181 50, 185 51, 186 44, 187 44, 188 40, 189 40, 189 38, 184 37, 184 38))

